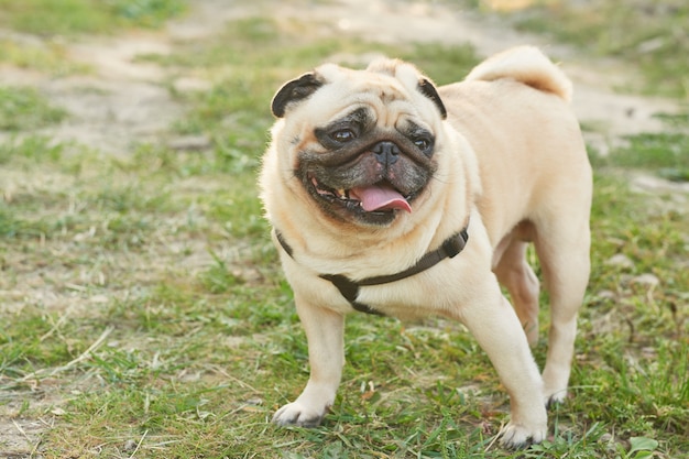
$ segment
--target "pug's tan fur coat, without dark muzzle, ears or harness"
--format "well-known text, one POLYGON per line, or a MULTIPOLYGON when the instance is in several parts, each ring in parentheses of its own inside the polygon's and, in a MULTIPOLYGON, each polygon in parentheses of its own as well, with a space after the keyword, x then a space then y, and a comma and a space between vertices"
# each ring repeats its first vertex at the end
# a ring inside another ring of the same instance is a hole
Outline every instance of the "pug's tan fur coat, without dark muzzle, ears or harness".
POLYGON ((277 120, 261 173, 267 218, 293 249, 292 256, 278 250, 311 368, 302 395, 274 420, 317 424, 335 400, 344 363, 343 316, 352 307, 319 274, 359 280, 403 271, 469 221, 469 242, 459 255, 403 281, 363 287, 358 299, 405 319, 441 315, 462 321, 511 396, 502 441, 540 441, 546 403, 567 393, 589 276, 591 168, 567 105, 571 84, 538 50, 514 48, 438 89, 448 111, 444 120, 417 90, 423 76, 409 64, 381 61, 360 72, 327 64, 315 74, 327 84, 277 120), (353 103, 373 107, 379 125, 412 117, 436 135, 437 172, 413 211, 398 212, 387 227, 361 227, 319 211, 294 175, 297 153, 317 144, 314 129, 353 103), (525 260, 529 242, 550 296, 543 376, 528 348, 537 340, 539 292, 525 260))

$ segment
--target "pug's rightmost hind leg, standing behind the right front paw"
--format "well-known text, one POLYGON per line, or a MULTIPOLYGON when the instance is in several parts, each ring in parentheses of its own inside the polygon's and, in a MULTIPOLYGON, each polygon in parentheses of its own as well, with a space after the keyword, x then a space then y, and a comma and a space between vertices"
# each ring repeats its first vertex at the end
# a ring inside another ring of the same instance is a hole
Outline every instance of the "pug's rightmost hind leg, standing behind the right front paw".
POLYGON ((550 296, 548 353, 543 371, 546 403, 562 402, 575 353, 577 315, 590 273, 588 216, 573 223, 560 218, 537 228, 536 254, 550 296))

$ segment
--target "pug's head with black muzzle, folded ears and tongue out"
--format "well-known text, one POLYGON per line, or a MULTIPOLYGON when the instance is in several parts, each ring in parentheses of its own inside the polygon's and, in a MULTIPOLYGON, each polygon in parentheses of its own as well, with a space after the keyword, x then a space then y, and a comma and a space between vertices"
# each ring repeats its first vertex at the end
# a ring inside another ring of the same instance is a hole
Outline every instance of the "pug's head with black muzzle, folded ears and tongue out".
POLYGON ((328 64, 285 84, 272 109, 284 118, 273 141, 288 155, 299 198, 339 222, 390 226, 412 211, 436 172, 446 111, 409 64, 328 64))

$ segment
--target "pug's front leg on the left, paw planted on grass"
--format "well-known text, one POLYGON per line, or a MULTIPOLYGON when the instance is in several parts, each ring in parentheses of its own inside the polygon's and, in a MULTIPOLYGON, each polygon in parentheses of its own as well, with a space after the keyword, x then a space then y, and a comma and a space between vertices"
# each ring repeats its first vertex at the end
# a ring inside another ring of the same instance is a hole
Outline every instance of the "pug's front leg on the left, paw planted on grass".
POLYGON ((344 364, 344 317, 314 306, 295 294, 297 313, 308 341, 310 376, 302 395, 280 408, 273 422, 282 426, 316 427, 335 402, 344 364))

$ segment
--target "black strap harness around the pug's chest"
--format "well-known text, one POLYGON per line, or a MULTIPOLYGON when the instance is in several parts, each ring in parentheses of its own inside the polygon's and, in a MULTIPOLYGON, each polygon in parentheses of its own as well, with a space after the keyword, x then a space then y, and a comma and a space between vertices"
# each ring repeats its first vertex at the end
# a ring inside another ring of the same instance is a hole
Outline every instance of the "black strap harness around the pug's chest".
MULTIPOLYGON (((468 226, 464 227, 461 231, 450 236, 440 244, 438 249, 426 253, 424 256, 420 258, 418 262, 416 262, 416 264, 396 274, 367 277, 362 278, 361 281, 352 281, 341 274, 320 274, 319 277, 325 278, 326 281, 330 281, 354 309, 359 310, 360 313, 382 316, 382 313, 373 309, 369 305, 364 305, 363 303, 357 300, 361 287, 389 284, 391 282, 401 281, 403 278, 413 276, 414 274, 426 271, 440 263, 445 259, 453 258, 467 245, 467 241, 469 240, 469 233, 467 232, 467 228, 468 226)), ((293 250, 285 241, 282 233, 275 230, 275 237, 277 238, 277 241, 280 242, 280 245, 282 245, 284 251, 294 259, 293 250)))

